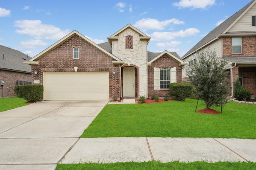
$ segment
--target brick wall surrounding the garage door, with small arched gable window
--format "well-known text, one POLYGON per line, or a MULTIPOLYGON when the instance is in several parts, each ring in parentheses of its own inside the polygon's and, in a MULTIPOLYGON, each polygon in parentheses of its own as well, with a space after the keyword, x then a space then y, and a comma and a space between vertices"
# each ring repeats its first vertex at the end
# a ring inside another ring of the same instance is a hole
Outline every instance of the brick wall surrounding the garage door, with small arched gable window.
POLYGON ((109 97, 120 97, 120 65, 112 64, 112 58, 78 35, 73 35, 39 59, 39 65, 32 65, 34 80, 43 84, 43 72, 109 72, 109 97), (79 48, 79 59, 73 59, 73 48, 79 48), (113 74, 113 71, 116 74, 113 74))

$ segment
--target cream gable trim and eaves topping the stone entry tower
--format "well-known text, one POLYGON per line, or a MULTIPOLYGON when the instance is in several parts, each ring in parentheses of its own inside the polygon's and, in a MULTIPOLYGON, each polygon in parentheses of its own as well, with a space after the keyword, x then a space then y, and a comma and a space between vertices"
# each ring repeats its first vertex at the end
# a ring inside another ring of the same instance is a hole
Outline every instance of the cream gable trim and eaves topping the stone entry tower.
POLYGON ((138 30, 137 28, 135 28, 134 26, 132 26, 130 23, 128 23, 125 27, 123 27, 122 29, 120 29, 119 31, 117 31, 116 33, 114 33, 113 35, 111 35, 110 37, 107 37, 108 42, 110 43, 110 46, 112 45, 111 41, 112 40, 118 40, 118 35, 120 33, 122 33, 124 30, 126 30, 127 28, 130 28, 132 30, 134 30, 135 32, 137 32, 140 35, 140 39, 146 40, 147 42, 149 42, 149 40, 151 39, 151 37, 148 37, 148 35, 144 34, 142 31, 138 30))

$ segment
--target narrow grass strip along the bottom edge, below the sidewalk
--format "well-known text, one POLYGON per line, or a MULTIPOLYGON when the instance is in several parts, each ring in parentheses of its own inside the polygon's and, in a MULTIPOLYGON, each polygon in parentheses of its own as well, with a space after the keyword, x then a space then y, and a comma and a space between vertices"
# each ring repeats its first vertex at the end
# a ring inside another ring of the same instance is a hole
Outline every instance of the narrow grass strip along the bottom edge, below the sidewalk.
POLYGON ((110 164, 58 164, 56 170, 256 170, 253 162, 118 162, 110 164))

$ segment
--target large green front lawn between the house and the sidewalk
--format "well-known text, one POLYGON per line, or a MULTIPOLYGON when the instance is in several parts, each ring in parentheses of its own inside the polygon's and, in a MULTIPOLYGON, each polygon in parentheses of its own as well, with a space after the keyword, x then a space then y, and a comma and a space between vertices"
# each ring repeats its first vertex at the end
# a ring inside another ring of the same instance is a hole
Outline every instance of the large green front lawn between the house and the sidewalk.
MULTIPOLYGON (((196 100, 106 105, 81 137, 256 139, 256 105, 228 102, 221 114, 195 113, 196 100)), ((202 101, 198 110, 204 109, 202 101)), ((220 111, 220 107, 213 109, 220 111)))

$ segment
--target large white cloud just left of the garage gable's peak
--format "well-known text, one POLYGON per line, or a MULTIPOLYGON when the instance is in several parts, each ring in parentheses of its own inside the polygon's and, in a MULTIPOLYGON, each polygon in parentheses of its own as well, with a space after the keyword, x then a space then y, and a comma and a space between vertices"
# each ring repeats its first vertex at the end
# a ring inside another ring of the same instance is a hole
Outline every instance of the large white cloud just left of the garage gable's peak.
POLYGON ((40 20, 17 20, 15 26, 21 28, 16 29, 16 33, 29 35, 35 39, 59 40, 70 33, 68 29, 61 30, 54 25, 42 24, 40 20))

